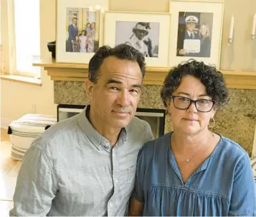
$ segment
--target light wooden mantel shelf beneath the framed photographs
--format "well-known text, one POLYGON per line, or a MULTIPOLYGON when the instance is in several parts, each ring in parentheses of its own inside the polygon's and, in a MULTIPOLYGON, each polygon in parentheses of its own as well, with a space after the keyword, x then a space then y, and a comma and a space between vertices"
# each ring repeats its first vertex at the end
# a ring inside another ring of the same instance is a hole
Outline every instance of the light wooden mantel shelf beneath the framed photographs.
MULTIPOLYGON (((33 66, 42 66, 53 81, 85 81, 88 64, 58 64, 55 62, 37 62, 33 66)), ((143 84, 162 85, 170 67, 146 67, 143 84)), ((230 89, 256 89, 256 71, 220 70, 230 89)))

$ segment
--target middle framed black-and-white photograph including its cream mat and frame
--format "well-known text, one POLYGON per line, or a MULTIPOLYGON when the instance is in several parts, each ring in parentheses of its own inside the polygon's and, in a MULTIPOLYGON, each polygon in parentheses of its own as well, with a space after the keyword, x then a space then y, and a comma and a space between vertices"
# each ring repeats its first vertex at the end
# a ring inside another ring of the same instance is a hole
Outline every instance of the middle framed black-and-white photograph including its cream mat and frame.
POLYGON ((167 66, 170 14, 105 13, 104 44, 129 44, 141 51, 147 66, 167 66))

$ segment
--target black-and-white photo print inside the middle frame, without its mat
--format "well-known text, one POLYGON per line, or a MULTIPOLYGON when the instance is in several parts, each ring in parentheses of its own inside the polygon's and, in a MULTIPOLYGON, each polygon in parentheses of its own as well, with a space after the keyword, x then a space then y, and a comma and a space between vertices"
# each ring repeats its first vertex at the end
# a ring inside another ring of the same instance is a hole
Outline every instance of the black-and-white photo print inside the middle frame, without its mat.
POLYGON ((116 21, 115 45, 133 46, 145 57, 158 57, 159 23, 116 21))

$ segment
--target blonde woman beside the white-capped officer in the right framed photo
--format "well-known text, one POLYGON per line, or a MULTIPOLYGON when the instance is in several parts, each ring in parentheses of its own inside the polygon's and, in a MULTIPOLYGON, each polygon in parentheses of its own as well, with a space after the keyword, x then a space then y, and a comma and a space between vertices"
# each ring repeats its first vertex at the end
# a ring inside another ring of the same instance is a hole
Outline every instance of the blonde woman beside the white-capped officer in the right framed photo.
POLYGON ((200 56, 210 57, 211 55, 211 38, 209 34, 209 26, 207 24, 201 24, 199 29, 199 36, 201 40, 200 56))

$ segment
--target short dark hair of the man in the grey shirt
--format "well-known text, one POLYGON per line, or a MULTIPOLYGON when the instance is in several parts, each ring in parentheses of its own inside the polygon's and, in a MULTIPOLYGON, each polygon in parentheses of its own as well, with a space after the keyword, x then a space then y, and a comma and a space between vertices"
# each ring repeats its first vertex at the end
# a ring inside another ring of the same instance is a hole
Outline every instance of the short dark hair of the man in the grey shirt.
POLYGON ((93 55, 89 62, 89 79, 93 83, 97 83, 98 77, 100 75, 99 69, 103 64, 104 59, 109 56, 115 56, 118 59, 136 61, 138 66, 140 66, 141 74, 144 77, 145 74, 145 58, 140 51, 129 46, 128 44, 119 44, 114 48, 110 46, 101 46, 100 49, 93 55))

